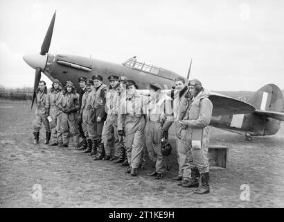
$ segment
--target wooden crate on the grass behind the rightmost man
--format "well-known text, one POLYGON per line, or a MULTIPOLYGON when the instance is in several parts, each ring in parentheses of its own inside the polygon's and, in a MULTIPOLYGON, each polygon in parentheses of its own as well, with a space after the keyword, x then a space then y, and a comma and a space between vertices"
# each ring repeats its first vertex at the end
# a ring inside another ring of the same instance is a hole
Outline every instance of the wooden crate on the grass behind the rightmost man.
POLYGON ((228 146, 211 145, 208 148, 208 158, 210 162, 210 167, 226 169, 227 160, 229 155, 228 146))

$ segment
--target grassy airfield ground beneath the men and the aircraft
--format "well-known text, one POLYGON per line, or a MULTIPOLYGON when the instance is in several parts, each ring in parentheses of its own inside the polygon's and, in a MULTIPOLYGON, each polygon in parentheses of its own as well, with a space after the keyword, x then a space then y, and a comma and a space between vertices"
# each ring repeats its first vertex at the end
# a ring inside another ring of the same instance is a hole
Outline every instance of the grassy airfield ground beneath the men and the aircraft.
POLYGON ((177 175, 175 150, 164 180, 145 176, 153 170, 149 162, 132 177, 72 146, 44 145, 43 129, 34 146, 32 120, 29 103, 0 101, 1 207, 284 207, 283 124, 276 135, 253 142, 211 128, 211 144, 230 147, 229 162, 211 170, 211 193, 199 196, 170 180, 177 175), (244 184, 249 200, 242 200, 244 184))

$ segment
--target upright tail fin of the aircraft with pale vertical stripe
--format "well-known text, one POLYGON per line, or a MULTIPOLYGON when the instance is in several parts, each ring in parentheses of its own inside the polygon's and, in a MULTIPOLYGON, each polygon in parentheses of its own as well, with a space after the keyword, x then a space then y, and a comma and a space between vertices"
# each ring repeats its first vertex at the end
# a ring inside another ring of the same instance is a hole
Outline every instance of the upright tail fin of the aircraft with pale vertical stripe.
MULTIPOLYGON (((282 112, 283 111, 283 94, 277 85, 267 84, 253 94, 248 103, 254 105, 258 114, 265 112, 282 112)), ((274 114, 270 113, 274 118, 274 114)), ((281 117, 282 118, 282 117, 281 117)), ((277 119, 277 118, 274 118, 277 119)))

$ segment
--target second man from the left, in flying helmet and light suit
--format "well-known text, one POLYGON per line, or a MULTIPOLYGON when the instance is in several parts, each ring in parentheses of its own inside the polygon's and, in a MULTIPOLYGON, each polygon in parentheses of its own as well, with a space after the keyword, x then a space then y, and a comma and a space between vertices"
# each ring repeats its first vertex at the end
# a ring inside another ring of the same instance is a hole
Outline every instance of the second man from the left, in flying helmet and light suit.
MULTIPOLYGON (((46 112, 49 113, 51 117, 51 121, 54 123, 54 127, 51 127, 51 136, 53 139, 53 143, 51 146, 57 146, 59 143, 62 144, 62 133, 60 131, 60 123, 61 123, 61 113, 58 105, 62 96, 62 84, 60 80, 53 80, 52 87, 50 92, 48 92, 46 97, 46 112)), ((50 124, 51 125, 51 124, 50 124)))

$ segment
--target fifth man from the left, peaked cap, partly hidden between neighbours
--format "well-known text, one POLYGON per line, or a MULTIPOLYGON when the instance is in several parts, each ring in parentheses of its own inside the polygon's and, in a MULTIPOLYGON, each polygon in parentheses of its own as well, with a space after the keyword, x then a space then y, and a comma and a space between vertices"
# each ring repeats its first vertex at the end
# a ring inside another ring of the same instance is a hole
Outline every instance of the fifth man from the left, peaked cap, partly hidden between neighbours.
POLYGON ((85 84, 86 84, 87 91, 82 96, 82 104, 80 108, 80 115, 78 117, 78 122, 82 122, 82 130, 87 139, 87 146, 86 147, 82 146, 80 150, 85 150, 86 148, 91 150, 91 146, 95 146, 95 143, 93 144, 91 143, 91 139, 89 137, 89 133, 87 130, 87 121, 88 121, 88 114, 89 114, 89 112, 87 111, 87 99, 88 99, 90 92, 94 89, 94 81, 87 79, 85 84))

